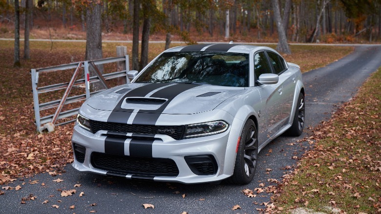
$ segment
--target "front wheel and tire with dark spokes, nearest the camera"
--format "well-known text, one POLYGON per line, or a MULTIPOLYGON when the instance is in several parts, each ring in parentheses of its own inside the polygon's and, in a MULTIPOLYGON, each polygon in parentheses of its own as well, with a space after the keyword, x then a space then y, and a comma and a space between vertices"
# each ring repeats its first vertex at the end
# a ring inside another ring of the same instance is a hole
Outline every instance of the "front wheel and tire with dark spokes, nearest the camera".
POLYGON ((239 138, 237 156, 233 176, 229 182, 233 184, 248 184, 254 178, 256 159, 258 156, 258 132, 252 120, 248 120, 239 138))

